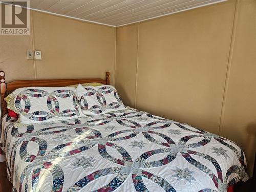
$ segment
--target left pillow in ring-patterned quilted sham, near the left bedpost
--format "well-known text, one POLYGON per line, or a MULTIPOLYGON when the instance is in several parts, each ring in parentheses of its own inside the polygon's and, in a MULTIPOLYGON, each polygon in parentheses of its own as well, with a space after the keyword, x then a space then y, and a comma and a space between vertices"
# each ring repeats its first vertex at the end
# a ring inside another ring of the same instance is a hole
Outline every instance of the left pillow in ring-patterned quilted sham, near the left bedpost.
POLYGON ((31 124, 80 117, 75 88, 19 88, 5 98, 19 123, 31 124))

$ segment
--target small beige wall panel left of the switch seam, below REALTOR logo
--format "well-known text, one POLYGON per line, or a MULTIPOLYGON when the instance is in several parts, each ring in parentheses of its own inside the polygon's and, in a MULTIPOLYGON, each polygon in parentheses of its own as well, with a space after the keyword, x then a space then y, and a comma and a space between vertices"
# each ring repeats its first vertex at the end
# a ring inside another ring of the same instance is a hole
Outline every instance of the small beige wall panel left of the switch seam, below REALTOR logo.
POLYGON ((33 49, 30 36, 0 35, 0 70, 5 71, 6 81, 34 79, 33 60, 27 60, 26 50, 33 49))

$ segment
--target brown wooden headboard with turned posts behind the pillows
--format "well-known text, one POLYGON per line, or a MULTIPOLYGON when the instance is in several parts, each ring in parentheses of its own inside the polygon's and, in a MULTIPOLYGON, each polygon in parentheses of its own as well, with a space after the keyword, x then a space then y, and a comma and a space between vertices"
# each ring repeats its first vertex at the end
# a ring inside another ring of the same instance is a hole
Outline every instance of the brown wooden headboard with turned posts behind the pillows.
POLYGON ((8 113, 7 103, 4 98, 7 93, 11 93, 18 88, 24 87, 66 87, 71 84, 98 82, 102 84, 110 84, 110 72, 106 72, 105 79, 44 79, 44 80, 16 80, 9 83, 5 82, 5 72, 0 71, 0 93, 1 93, 1 109, 2 115, 8 113))

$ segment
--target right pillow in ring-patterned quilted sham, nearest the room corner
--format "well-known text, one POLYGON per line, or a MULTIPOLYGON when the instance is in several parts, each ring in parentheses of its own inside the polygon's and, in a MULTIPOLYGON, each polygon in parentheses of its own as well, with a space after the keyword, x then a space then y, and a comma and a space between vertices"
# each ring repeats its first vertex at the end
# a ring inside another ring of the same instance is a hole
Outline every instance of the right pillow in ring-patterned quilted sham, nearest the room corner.
POLYGON ((83 115, 104 114, 125 108, 113 86, 83 87, 79 84, 76 93, 83 115))

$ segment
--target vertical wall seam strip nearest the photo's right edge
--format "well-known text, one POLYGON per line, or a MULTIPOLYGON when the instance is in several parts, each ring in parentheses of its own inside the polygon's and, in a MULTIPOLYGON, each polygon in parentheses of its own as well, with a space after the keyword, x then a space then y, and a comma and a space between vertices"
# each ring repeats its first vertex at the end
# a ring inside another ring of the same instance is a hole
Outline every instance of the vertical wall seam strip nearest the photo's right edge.
POLYGON ((222 131, 223 131, 224 113, 225 113, 225 106, 226 106, 226 100, 227 100, 227 90, 228 90, 229 77, 230 77, 230 71, 231 71, 234 41, 236 39, 239 2, 240 2, 240 0, 237 0, 236 5, 234 7, 233 27, 232 27, 232 32, 231 32, 231 41, 230 41, 229 55, 228 55, 228 65, 227 65, 226 79, 225 79, 225 84, 224 84, 223 99, 222 99, 222 106, 221 106, 221 117, 220 117, 218 135, 222 135, 222 131))

